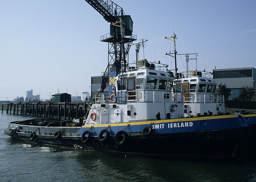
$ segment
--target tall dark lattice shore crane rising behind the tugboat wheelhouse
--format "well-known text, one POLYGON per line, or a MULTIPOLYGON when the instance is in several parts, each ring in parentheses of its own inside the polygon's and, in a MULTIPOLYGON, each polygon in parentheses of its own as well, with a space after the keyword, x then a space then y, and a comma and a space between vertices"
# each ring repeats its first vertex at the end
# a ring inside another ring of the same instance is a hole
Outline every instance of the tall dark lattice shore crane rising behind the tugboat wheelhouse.
MULTIPOLYGON (((99 92, 103 92, 109 84, 110 76, 113 78, 121 70, 127 68, 126 57, 132 41, 137 40, 132 35, 133 21, 130 15, 125 15, 123 8, 111 0, 85 0, 103 18, 110 23, 110 33, 101 36, 101 41, 108 42, 108 66, 102 76, 102 84, 99 92)), ((112 88, 109 87, 109 92, 112 88)))

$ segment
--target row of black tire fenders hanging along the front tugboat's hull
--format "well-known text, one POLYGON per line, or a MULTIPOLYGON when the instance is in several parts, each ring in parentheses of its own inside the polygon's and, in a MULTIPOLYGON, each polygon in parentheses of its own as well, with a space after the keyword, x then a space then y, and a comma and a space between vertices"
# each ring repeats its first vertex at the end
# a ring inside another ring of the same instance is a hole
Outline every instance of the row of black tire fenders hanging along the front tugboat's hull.
MULTIPOLYGON (((128 124, 127 127, 128 127, 129 125, 130 125, 130 124, 128 124)), ((151 125, 151 123, 150 123, 150 125, 151 125)), ((151 132, 153 131, 153 129, 152 129, 152 127, 151 127, 150 125, 143 128, 143 130, 142 130, 142 135, 148 136, 148 135, 151 134, 151 132)), ((127 127, 126 127, 126 128, 127 128, 127 127)), ((91 126, 91 128, 93 128, 93 126, 91 126)), ((87 143, 87 142, 90 141, 90 138, 91 138, 91 132, 90 132, 90 130, 91 130, 91 128, 90 128, 89 130, 83 132, 83 134, 82 134, 82 136, 81 136, 81 142, 82 142, 82 143, 87 143)), ((109 128, 109 127, 108 127, 108 128, 109 128)), ((108 128, 103 129, 103 130, 101 130, 101 132, 99 132, 99 136, 98 136, 98 141, 99 141, 99 142, 105 142, 105 141, 109 138, 110 133, 109 133, 109 131, 108 131, 108 128), (104 135, 104 134, 105 134, 105 135, 104 135)), ((126 130, 126 128, 125 128, 124 130, 126 130)), ((39 129, 39 128, 37 128, 37 130, 38 130, 38 129, 39 129)), ((18 126, 17 128, 13 129, 13 130, 11 131, 10 135, 13 136, 13 135, 16 134, 16 132, 19 132, 20 130, 22 130, 22 126, 18 126), (18 129, 18 128, 19 128, 19 129, 18 129)), ((37 135, 35 134, 35 132, 36 132, 37 130, 33 131, 33 132, 30 134, 30 137, 29 137, 29 138, 30 138, 31 141, 33 141, 33 140, 35 139, 35 137, 37 136, 37 135)), ((61 138, 61 132, 62 132, 63 130, 64 130, 64 129, 62 129, 62 130, 60 130, 60 131, 56 131, 56 132, 54 133, 54 135, 53 135, 53 138, 54 138, 54 139, 59 139, 59 138, 61 138)), ((124 144, 125 141, 127 141, 127 139, 128 139, 128 134, 127 134, 127 132, 124 131, 124 130, 118 131, 118 132, 116 133, 116 135, 115 135, 115 142, 116 142, 117 145, 122 145, 122 144, 124 144)))

